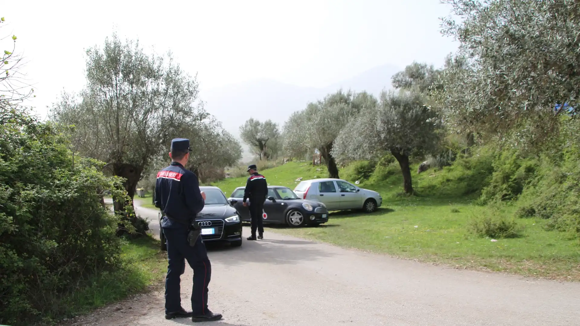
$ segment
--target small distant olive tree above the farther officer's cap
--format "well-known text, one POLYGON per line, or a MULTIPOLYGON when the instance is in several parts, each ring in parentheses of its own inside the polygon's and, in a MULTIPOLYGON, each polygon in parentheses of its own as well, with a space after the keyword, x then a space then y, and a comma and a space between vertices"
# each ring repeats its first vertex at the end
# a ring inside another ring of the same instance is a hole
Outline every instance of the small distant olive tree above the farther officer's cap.
POLYGON ((244 125, 240 126, 240 136, 260 160, 269 160, 278 154, 277 142, 280 131, 278 124, 270 119, 260 122, 254 118, 249 118, 244 125))

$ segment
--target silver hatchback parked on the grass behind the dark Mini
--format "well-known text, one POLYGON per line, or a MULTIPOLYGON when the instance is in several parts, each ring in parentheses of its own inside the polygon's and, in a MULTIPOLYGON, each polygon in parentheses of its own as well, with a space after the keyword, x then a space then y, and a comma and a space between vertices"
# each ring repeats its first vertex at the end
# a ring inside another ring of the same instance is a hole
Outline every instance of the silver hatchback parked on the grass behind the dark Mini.
POLYGON ((342 179, 305 180, 296 185, 294 193, 300 198, 324 203, 329 211, 362 209, 372 213, 383 203, 383 197, 376 191, 362 189, 342 179))

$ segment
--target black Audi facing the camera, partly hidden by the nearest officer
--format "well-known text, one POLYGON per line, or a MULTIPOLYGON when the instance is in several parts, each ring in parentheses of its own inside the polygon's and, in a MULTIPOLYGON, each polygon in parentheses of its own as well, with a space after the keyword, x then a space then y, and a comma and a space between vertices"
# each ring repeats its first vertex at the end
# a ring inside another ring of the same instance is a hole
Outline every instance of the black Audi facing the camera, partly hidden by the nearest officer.
MULTIPOLYGON (((198 213, 195 222, 201 226, 201 238, 205 241, 227 241, 233 247, 242 245, 242 222, 240 214, 230 204, 218 187, 202 186, 205 193, 205 207, 198 213)), ((161 228, 159 214, 161 250, 166 251, 165 236, 161 228)))

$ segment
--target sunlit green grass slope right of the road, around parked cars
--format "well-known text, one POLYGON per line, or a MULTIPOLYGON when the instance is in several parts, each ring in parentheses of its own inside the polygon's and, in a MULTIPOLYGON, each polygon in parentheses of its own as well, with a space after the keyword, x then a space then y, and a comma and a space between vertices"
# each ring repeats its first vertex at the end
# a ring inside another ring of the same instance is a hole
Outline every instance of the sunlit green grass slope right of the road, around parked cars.
MULTIPOLYGON (((416 171, 416 169, 414 170, 416 171)), ((469 180, 461 181, 458 171, 429 170, 413 172, 414 187, 420 194, 402 197, 403 180, 396 167, 385 173, 384 180, 368 181, 362 187, 379 191, 383 207, 371 215, 359 212, 333 212, 328 223, 302 229, 271 229, 279 233, 321 240, 347 248, 388 253, 401 258, 444 263, 458 268, 507 271, 527 276, 561 280, 580 280, 580 247, 568 234, 543 229, 544 220, 519 219, 521 237, 492 242, 467 231, 470 218, 494 213, 471 202, 477 194, 464 195, 469 180), (416 227, 415 227, 416 226, 416 227)), ((296 178, 304 180, 327 176, 322 168, 307 162, 278 166, 263 171, 269 184, 293 189, 296 178)), ((341 176, 349 171, 341 171, 341 176)), ((372 179, 372 178, 371 178, 372 179)), ((354 180, 349 180, 354 182, 354 180)), ((244 186, 245 178, 226 179, 213 185, 226 194, 244 186)), ((512 216, 513 209, 501 213, 512 216)))

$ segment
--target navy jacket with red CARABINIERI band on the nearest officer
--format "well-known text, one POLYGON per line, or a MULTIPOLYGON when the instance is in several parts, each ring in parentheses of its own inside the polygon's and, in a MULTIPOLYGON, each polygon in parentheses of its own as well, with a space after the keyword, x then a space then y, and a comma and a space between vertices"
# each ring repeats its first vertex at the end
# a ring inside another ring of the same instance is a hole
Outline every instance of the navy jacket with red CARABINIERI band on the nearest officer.
POLYGON ((155 207, 161 208, 164 215, 161 227, 187 229, 197 213, 204 209, 204 205, 200 182, 195 173, 177 162, 172 162, 157 173, 155 207), (166 215, 179 222, 166 218, 166 215))

